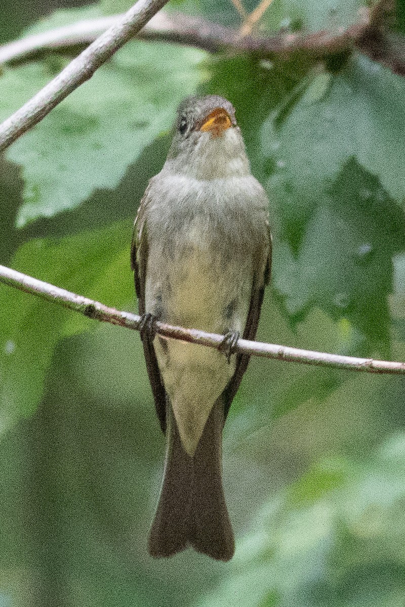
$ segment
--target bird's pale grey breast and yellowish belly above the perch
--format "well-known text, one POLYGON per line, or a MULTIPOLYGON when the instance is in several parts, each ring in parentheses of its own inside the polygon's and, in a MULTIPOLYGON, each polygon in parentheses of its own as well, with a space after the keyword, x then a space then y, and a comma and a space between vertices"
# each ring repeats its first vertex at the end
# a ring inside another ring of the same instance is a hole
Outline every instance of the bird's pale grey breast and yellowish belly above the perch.
POLYGON ((267 247, 261 186, 253 177, 167 183, 148 210, 147 280, 167 322, 222 332, 234 302, 245 316, 257 248, 267 247))

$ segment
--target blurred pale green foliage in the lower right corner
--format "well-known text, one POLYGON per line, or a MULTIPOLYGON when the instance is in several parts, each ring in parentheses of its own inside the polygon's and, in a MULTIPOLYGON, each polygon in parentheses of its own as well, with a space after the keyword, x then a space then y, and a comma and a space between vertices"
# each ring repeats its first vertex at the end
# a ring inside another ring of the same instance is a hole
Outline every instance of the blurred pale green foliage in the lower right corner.
POLYGON ((323 458, 264 504, 204 607, 400 607, 405 435, 372 458, 323 458), (254 574, 253 574, 254 571, 254 574))

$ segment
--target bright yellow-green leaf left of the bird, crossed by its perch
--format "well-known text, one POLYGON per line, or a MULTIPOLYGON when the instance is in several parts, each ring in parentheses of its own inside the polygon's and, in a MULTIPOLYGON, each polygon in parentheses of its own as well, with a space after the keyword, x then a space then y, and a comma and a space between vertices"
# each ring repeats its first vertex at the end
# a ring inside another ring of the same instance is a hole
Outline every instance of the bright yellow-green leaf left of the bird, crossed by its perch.
MULTIPOLYGON (((130 227, 118 223, 64 239, 31 240, 13 259, 19 271, 122 307, 132 298, 130 227)), ((0 287, 1 426, 35 410, 55 345, 94 326, 81 314, 38 297, 0 287)))

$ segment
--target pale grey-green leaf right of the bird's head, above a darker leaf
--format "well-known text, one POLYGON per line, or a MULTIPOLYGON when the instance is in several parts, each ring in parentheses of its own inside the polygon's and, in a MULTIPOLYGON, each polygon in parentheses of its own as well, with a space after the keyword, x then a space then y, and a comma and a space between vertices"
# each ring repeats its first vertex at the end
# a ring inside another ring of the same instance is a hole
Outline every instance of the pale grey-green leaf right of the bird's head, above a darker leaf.
POLYGON ((354 56, 336 75, 315 75, 287 115, 264 124, 264 153, 274 169, 268 188, 311 206, 354 157, 402 203, 404 131, 404 79, 354 56))

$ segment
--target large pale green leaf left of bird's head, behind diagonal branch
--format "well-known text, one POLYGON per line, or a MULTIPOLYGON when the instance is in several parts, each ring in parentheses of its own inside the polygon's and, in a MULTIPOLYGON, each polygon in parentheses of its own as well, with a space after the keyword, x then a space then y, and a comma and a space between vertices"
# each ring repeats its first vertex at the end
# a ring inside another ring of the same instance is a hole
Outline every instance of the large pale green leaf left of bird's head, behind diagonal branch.
MULTIPOLYGON (((182 98, 194 92, 204 57, 195 49, 131 42, 16 141, 7 158, 21 164, 24 178, 17 225, 74 208, 96 188, 117 186, 128 165, 171 126, 182 98)), ((5 70, 0 120, 45 86, 63 67, 57 61, 55 67, 51 56, 5 70)))

